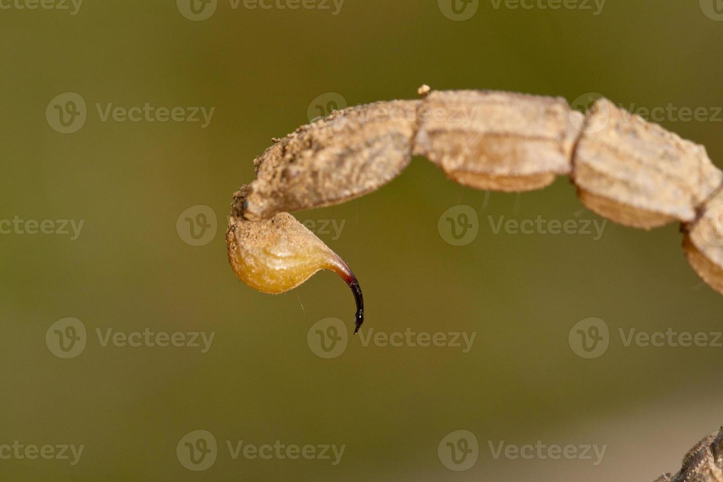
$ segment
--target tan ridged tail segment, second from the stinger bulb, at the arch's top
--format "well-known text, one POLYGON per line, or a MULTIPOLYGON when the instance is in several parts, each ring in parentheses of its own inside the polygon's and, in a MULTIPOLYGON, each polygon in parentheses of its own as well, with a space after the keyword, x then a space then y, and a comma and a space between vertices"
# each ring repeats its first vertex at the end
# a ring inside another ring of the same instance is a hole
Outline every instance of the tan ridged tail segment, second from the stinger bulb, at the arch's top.
POLYGON ((415 155, 476 189, 529 191, 570 173, 583 116, 562 98, 435 91, 419 107, 415 155))

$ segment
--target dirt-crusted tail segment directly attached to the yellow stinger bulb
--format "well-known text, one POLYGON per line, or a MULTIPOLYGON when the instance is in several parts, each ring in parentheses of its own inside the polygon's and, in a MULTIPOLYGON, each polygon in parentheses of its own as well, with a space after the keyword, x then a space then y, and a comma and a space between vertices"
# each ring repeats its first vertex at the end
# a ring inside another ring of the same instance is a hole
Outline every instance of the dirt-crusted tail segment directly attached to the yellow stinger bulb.
POLYGON ((254 161, 247 219, 335 205, 391 181, 411 160, 421 102, 344 109, 281 139, 254 161))

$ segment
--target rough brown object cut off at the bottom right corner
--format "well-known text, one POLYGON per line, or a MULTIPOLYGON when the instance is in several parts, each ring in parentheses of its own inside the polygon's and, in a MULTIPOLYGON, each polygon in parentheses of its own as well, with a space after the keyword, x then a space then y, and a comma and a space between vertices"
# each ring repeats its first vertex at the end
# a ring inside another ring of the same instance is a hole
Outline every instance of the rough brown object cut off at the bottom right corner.
POLYGON ((678 473, 663 474, 655 482, 723 482, 723 427, 685 454, 678 473))

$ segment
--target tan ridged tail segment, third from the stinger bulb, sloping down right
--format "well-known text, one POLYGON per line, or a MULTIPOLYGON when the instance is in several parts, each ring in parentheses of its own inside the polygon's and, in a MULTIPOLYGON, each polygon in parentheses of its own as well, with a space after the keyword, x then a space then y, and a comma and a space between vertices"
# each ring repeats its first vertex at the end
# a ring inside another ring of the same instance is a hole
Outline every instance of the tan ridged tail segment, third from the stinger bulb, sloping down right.
POLYGON ((723 173, 705 147, 628 113, 607 99, 588 113, 573 160, 583 203, 634 228, 690 222, 723 173))

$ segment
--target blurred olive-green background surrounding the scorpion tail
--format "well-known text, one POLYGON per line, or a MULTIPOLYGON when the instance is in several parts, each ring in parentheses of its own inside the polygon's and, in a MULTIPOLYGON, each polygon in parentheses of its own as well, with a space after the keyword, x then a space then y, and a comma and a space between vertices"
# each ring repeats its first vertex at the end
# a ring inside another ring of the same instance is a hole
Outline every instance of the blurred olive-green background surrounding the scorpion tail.
POLYGON ((618 334, 723 330, 723 296, 688 267, 677 225, 647 233, 608 223, 597 241, 492 232, 488 216, 600 222, 567 178, 486 199, 419 158, 380 191, 295 213, 317 226, 344 223, 339 236, 319 236, 359 277, 367 334, 476 332, 469 353, 355 337, 341 356, 320 358, 307 333, 328 317, 351 326, 346 285, 322 272, 290 293, 257 293, 228 267, 223 236, 254 157, 306 124, 309 106, 329 92, 348 106, 415 98, 427 83, 703 107, 711 119, 662 124, 706 145, 723 167, 714 2, 609 0, 595 14, 592 2, 510 9, 482 0, 455 21, 435 1, 347 0, 333 14, 332 2, 234 9, 218 0, 197 2, 215 11, 194 21, 181 0, 86 0, 76 14, 69 2, 63 10, 18 1, 0 0, 0 219, 84 225, 74 240, 0 235, 0 445, 85 447, 77 465, 0 459, 3 480, 651 481, 723 423, 723 348, 625 347, 618 334), (87 104, 72 134, 46 117, 64 92, 87 104), (215 111, 202 128, 103 121, 96 103, 215 111), (206 218, 202 246, 176 229, 197 205, 218 219, 206 218), (437 231, 455 205, 479 215, 466 246, 437 231), (82 321, 87 344, 63 359, 46 332, 67 317, 82 321), (568 343, 589 317, 610 332, 607 352, 593 359, 568 343), (215 337, 206 353, 103 346, 96 329, 109 328, 215 337), (187 470, 176 455, 196 430, 218 442, 208 470, 187 470), (457 430, 479 442, 479 460, 461 472, 437 453, 457 430), (226 441, 241 440, 346 449, 338 465, 234 460, 226 441), (495 458, 489 449, 538 440, 607 451, 593 465, 495 458))

